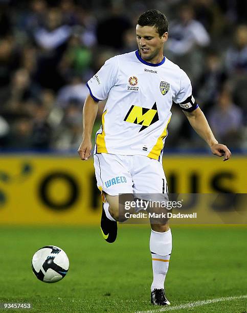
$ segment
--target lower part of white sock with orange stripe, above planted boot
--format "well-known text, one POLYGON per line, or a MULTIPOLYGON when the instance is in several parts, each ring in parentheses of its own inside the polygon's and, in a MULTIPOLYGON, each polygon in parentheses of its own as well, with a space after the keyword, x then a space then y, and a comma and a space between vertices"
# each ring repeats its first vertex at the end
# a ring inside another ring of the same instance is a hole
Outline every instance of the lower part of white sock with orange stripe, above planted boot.
POLYGON ((151 292, 153 289, 164 289, 166 274, 168 271, 170 255, 159 255, 152 253, 153 266, 153 282, 151 284, 151 292))

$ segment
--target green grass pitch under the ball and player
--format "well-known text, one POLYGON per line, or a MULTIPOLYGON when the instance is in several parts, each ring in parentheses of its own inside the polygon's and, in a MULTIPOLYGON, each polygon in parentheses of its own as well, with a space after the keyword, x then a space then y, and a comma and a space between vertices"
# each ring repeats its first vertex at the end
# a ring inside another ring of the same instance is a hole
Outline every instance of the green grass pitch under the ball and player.
MULTIPOLYGON (((247 294, 246 230, 173 227, 166 278, 172 306, 247 294)), ((0 302, 31 302, 32 312, 157 308, 149 304, 152 270, 147 227, 121 225, 114 244, 106 243, 98 228, 78 227, 2 227, 0 241, 0 302), (54 284, 39 281, 30 267, 33 253, 48 244, 61 247, 70 259, 68 275, 54 284)), ((246 299, 175 311, 244 312, 246 299)))

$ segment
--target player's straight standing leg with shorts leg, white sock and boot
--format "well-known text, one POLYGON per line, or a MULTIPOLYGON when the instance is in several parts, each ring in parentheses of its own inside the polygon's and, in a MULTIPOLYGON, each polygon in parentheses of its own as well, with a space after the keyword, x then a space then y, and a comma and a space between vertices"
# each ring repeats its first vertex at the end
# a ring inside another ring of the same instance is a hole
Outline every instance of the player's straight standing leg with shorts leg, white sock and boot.
MULTIPOLYGON (((134 158, 137 159, 137 162, 134 162, 136 164, 134 172, 131 173, 134 182, 134 195, 144 200, 152 199, 152 201, 159 202, 168 200, 168 189, 162 163, 140 155, 135 155, 134 158)), ((154 211, 152 208, 150 212, 154 211)), ((171 230, 166 218, 150 219, 150 225, 150 252, 153 270, 151 303, 154 305, 169 305, 170 302, 166 299, 164 293, 164 282, 172 250, 171 230)))

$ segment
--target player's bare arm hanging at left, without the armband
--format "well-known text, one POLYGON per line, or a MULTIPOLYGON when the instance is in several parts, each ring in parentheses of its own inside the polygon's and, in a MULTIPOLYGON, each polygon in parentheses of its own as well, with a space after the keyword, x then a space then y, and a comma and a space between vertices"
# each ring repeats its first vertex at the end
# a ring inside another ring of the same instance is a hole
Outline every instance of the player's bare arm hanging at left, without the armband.
POLYGON ((78 149, 78 153, 80 155, 81 160, 87 160, 91 155, 92 150, 92 131, 94 122, 98 112, 98 102, 95 101, 90 95, 87 96, 82 113, 82 142, 78 149))

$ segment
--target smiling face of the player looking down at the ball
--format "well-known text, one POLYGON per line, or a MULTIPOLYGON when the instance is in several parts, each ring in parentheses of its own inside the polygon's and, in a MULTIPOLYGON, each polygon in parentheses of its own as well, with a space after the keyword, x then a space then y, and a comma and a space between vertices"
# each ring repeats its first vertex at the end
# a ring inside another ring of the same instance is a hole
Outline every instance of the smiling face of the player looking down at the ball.
POLYGON ((142 27, 140 25, 137 25, 136 32, 142 59, 151 63, 159 63, 163 59, 163 47, 168 33, 166 32, 160 37, 154 26, 142 27))

